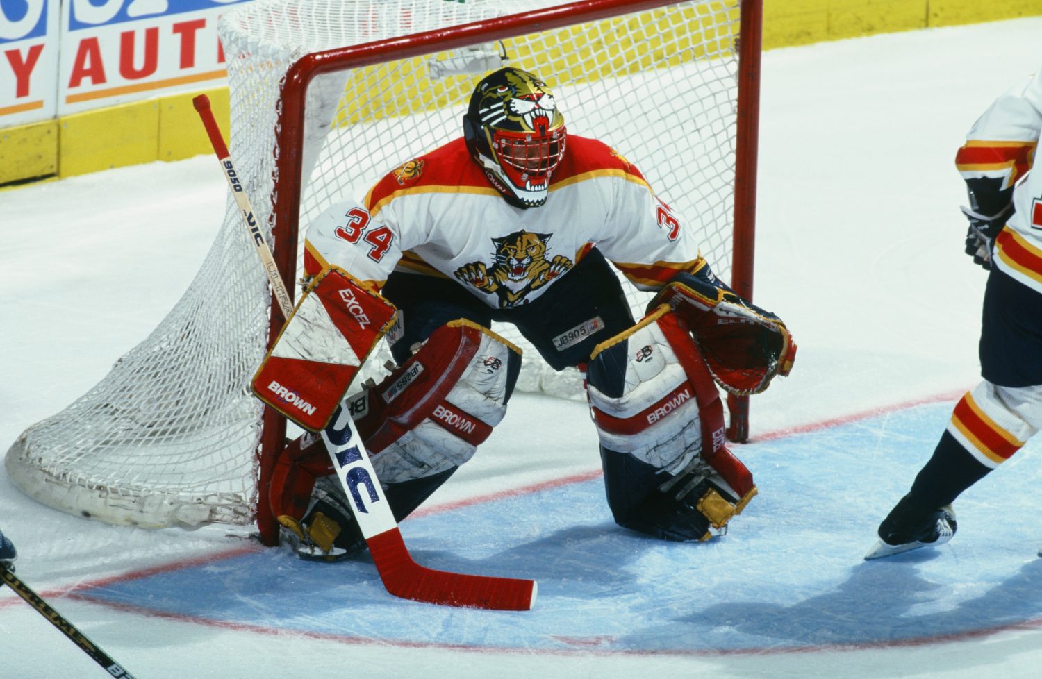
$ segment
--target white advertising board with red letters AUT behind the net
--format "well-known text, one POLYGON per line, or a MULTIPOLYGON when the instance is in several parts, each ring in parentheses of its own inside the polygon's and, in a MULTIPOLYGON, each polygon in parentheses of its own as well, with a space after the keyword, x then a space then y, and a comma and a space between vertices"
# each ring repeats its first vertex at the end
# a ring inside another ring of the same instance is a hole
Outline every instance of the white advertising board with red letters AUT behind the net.
POLYGON ((220 84, 217 22, 246 1, 65 0, 58 115, 220 84))

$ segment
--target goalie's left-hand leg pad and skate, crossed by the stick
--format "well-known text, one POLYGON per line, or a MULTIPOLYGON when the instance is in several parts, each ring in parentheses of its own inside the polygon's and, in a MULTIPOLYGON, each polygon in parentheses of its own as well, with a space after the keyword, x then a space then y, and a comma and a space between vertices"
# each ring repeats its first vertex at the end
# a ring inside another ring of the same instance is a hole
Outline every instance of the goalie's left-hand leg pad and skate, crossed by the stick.
MULTIPOLYGON (((388 503, 401 521, 473 455, 505 413, 520 350, 468 321, 436 330, 379 384, 351 397, 351 416, 388 503)), ((304 558, 343 558, 365 545, 320 437, 276 462, 272 511, 304 558)))

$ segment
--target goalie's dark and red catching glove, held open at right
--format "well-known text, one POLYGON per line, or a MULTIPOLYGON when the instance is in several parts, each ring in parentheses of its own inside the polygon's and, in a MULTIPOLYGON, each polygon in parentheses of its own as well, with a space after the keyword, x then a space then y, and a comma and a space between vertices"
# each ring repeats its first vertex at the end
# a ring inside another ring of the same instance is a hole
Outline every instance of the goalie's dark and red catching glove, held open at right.
POLYGON ((782 319, 739 297, 709 265, 674 276, 648 309, 663 303, 687 325, 713 378, 728 393, 759 394, 792 370, 796 345, 782 319))

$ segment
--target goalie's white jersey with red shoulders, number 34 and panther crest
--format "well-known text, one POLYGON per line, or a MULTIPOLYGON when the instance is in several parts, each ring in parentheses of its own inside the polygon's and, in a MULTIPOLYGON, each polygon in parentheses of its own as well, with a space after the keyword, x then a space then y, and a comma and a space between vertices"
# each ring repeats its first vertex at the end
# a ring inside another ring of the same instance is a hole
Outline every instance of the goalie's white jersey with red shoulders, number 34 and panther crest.
POLYGON ((308 275, 336 265, 379 287, 394 270, 457 281, 489 306, 543 295, 596 246, 630 281, 658 290, 704 265, 695 229, 601 142, 568 135, 546 203, 510 205, 462 139, 410 160, 307 229, 308 275))

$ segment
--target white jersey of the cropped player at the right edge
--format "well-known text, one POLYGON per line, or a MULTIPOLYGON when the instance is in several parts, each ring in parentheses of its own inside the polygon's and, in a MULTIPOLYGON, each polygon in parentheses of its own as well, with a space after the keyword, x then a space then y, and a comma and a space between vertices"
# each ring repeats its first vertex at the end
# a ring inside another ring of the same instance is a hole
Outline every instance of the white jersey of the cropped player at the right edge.
POLYGON ((1014 212, 995 238, 993 266, 1042 294, 1042 172, 1031 172, 1042 134, 1042 71, 984 112, 956 155, 967 183, 1013 187, 1014 212))

